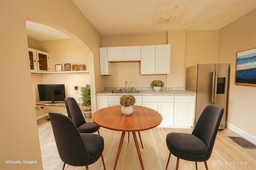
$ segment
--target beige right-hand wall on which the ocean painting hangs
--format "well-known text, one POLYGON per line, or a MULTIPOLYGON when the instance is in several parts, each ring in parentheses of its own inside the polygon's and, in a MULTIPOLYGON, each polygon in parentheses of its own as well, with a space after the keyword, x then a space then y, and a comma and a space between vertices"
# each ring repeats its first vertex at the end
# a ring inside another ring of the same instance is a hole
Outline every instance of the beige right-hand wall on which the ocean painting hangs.
POLYGON ((237 86, 236 52, 256 47, 256 10, 220 29, 218 63, 230 63, 227 122, 256 136, 256 87, 237 86))

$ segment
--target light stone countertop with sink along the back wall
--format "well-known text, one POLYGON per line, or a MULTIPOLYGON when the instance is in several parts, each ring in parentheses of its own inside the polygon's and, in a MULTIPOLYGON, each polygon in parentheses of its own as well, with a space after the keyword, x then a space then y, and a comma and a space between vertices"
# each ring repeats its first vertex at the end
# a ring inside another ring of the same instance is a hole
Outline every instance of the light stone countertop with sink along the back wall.
POLYGON ((145 96, 145 95, 169 95, 169 96, 187 96, 187 95, 196 95, 194 92, 190 92, 188 90, 160 90, 160 91, 154 91, 154 90, 138 90, 139 93, 110 93, 112 90, 103 90, 102 92, 96 93, 96 95, 109 95, 109 96, 120 96, 125 94, 132 94, 134 96, 145 96))

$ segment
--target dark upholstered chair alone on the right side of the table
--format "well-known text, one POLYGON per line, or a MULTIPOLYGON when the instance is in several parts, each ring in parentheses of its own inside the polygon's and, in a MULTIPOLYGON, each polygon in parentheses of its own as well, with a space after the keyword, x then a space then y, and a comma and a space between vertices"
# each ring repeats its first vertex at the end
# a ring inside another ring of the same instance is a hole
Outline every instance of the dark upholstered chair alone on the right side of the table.
POLYGON ((177 157, 176 170, 178 170, 179 159, 188 161, 204 162, 206 170, 208 160, 212 154, 212 149, 218 127, 224 109, 220 106, 210 104, 204 108, 200 115, 192 134, 187 133, 168 133, 166 144, 170 150, 166 170, 170 161, 171 154, 177 157))

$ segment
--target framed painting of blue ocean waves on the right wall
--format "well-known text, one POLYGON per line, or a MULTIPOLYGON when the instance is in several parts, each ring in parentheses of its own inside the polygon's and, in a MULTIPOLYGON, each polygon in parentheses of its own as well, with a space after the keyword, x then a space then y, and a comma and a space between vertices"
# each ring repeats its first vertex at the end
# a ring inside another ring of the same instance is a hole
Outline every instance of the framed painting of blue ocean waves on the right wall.
POLYGON ((235 84, 256 86, 256 48, 236 52, 235 84))

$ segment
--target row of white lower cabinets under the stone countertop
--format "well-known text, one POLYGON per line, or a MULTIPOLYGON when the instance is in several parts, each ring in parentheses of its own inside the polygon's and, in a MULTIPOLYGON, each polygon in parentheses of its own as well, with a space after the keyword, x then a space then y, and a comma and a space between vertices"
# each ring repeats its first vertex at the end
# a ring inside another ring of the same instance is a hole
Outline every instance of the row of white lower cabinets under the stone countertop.
MULTIPOLYGON (((120 95, 97 95, 97 108, 120 105, 120 95)), ((134 96, 135 105, 158 111, 163 120, 158 127, 190 128, 194 121, 195 96, 134 96)))

